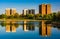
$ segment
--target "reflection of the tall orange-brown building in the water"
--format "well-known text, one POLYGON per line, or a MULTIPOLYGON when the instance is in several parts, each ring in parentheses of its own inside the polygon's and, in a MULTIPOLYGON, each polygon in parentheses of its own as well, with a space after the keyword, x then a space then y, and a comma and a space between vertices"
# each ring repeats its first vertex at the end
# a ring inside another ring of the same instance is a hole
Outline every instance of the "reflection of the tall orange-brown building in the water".
POLYGON ((39 34, 42 36, 50 36, 51 34, 51 26, 45 24, 44 21, 41 22, 41 26, 39 27, 39 34))

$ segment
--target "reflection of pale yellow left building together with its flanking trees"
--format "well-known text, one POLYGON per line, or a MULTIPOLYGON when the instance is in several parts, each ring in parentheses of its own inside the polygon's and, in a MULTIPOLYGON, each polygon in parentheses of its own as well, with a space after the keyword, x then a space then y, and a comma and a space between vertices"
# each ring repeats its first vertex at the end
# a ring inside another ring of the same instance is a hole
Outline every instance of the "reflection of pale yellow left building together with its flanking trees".
POLYGON ((16 32, 16 28, 19 26, 15 21, 5 21, 0 24, 2 27, 6 28, 6 32, 16 32))

